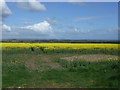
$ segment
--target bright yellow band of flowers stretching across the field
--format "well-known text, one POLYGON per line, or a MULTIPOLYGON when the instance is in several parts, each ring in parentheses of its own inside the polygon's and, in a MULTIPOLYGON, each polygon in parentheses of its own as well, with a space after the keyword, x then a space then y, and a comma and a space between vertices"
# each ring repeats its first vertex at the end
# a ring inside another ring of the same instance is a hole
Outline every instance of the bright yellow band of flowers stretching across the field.
POLYGON ((51 49, 92 49, 92 48, 107 48, 118 49, 120 44, 91 44, 91 43, 2 43, 2 49, 11 48, 40 48, 44 47, 46 50, 51 49))

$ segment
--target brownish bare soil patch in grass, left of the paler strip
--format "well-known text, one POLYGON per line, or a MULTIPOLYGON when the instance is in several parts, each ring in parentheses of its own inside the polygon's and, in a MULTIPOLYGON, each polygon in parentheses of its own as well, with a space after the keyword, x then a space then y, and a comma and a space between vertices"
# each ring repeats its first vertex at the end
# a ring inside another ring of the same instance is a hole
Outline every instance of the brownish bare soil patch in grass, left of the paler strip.
POLYGON ((48 69, 63 69, 58 63, 53 62, 49 56, 33 57, 25 61, 25 66, 31 70, 45 71, 48 69), (42 63, 43 62, 43 63, 42 63))

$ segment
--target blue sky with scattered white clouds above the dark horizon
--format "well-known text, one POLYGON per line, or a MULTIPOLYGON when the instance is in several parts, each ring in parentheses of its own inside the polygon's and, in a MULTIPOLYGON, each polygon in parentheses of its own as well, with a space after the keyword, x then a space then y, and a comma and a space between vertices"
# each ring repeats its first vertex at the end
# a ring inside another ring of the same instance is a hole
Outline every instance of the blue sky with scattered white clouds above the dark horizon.
POLYGON ((117 2, 3 2, 0 8, 3 39, 118 39, 117 2))

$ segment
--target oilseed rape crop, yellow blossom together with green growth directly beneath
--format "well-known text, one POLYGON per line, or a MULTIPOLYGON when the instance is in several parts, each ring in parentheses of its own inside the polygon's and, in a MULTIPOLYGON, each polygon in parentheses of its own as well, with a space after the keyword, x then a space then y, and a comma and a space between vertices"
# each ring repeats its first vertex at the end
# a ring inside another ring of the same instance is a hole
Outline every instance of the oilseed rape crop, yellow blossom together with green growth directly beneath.
POLYGON ((119 44, 97 43, 2 43, 2 50, 34 51, 41 53, 103 53, 118 54, 119 44))

